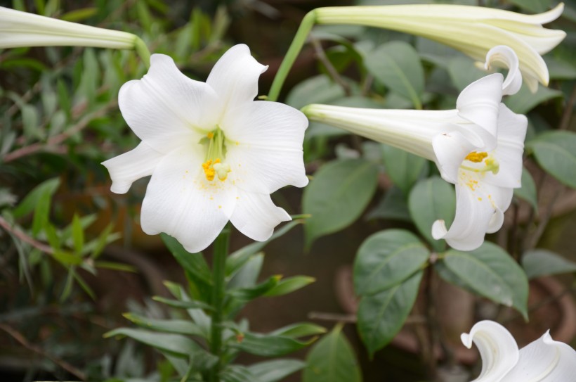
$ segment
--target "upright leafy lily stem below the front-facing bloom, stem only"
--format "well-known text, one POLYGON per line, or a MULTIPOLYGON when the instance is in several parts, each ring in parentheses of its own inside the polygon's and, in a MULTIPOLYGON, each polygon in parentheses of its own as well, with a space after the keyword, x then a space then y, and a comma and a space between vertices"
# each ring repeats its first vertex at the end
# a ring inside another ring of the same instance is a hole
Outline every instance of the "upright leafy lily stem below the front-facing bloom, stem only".
POLYGON ((228 257, 228 239, 230 238, 230 228, 225 227, 214 241, 214 257, 212 261, 212 277, 214 286, 212 287, 212 324, 210 331, 210 352, 218 357, 218 362, 210 372, 210 382, 218 382, 218 374, 222 367, 222 319, 223 303, 225 294, 225 267, 226 257, 228 257))

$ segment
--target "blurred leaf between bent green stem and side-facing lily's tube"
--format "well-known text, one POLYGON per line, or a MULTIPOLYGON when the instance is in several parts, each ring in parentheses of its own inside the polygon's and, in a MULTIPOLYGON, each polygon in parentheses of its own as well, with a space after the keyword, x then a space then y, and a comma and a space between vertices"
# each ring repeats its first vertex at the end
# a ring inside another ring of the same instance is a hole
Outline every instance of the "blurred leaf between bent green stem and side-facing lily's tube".
POLYGON ((286 103, 293 108, 300 109, 310 103, 330 103, 344 96, 339 84, 325 75, 310 77, 300 82, 286 97, 286 103))

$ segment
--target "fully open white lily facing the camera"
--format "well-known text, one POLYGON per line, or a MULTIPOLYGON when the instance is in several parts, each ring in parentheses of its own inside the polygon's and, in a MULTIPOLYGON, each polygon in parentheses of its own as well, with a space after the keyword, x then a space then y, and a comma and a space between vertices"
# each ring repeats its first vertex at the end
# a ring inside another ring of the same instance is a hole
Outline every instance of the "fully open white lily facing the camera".
POLYGON ((270 193, 308 184, 302 152, 308 120, 282 103, 254 101, 267 68, 248 46, 236 45, 204 83, 154 54, 148 74, 122 86, 120 110, 142 141, 103 165, 114 193, 152 175, 140 213, 145 233, 165 232, 194 253, 228 220, 258 241, 290 220, 270 193))

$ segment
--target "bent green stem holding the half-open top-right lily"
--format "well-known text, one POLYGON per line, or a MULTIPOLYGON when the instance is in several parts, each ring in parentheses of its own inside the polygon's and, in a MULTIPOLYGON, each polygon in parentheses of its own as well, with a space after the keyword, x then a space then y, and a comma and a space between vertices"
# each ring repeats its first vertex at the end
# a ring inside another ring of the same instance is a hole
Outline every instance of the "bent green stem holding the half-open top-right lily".
POLYGON ((284 56, 284 60, 280 64, 280 68, 276 72, 276 77, 274 77, 274 81, 272 82, 272 86, 270 87, 270 92, 268 93, 268 101, 277 101, 278 96, 280 96, 280 90, 282 90, 282 85, 284 84, 284 80, 288 76, 290 69, 292 69, 292 65, 294 65, 294 61, 296 61, 296 57, 298 57, 300 51, 302 50, 302 46, 306 42, 306 37, 308 37, 308 33, 312 30, 316 22, 316 13, 315 9, 306 13, 306 16, 302 19, 300 23, 300 27, 296 34, 294 35, 294 39, 292 40, 292 44, 284 56))

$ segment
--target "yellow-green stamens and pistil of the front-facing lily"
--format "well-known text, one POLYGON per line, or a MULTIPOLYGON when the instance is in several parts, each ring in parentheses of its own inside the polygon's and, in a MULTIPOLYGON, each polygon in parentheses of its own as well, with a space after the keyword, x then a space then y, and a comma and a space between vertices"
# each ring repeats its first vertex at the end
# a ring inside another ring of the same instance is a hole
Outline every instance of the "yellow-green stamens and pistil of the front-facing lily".
POLYGON ((199 141, 200 144, 207 147, 202 170, 204 170, 204 175, 210 182, 214 180, 215 175, 224 182, 228 177, 228 172, 230 172, 230 165, 223 163, 226 158, 225 140, 224 133, 219 126, 216 126, 216 129, 206 134, 199 141))

